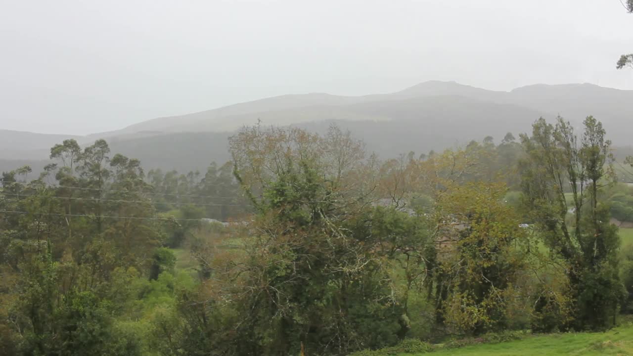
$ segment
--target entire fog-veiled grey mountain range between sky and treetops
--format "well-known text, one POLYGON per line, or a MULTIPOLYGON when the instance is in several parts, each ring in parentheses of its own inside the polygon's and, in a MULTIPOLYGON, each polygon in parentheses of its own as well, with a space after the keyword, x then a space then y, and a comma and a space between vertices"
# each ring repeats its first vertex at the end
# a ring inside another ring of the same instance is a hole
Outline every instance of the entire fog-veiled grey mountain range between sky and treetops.
MULTIPOLYGON (((536 84, 510 92, 456 82, 424 82, 390 94, 335 96, 292 94, 174 117, 161 117, 89 136, 0 130, 0 170, 45 160, 53 144, 104 138, 113 153, 139 158, 146 168, 204 169, 229 159, 227 137, 244 125, 298 125, 322 132, 335 123, 349 129, 380 156, 426 153, 506 132, 527 132, 539 117, 561 115, 579 124, 594 115, 615 145, 629 144, 633 91, 593 84, 536 84)), ((34 170, 37 171, 37 169, 34 170)))

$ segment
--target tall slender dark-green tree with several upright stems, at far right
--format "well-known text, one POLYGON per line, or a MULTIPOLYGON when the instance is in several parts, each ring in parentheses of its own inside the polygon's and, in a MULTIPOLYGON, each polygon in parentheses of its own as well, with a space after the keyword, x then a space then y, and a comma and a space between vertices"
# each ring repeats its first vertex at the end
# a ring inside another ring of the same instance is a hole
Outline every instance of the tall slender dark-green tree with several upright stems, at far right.
POLYGON ((577 329, 600 329, 615 322, 623 287, 618 277, 617 227, 599 200, 613 181, 610 141, 593 117, 577 137, 562 118, 555 125, 543 118, 532 136, 521 136, 525 207, 546 246, 565 260, 575 302, 577 329))

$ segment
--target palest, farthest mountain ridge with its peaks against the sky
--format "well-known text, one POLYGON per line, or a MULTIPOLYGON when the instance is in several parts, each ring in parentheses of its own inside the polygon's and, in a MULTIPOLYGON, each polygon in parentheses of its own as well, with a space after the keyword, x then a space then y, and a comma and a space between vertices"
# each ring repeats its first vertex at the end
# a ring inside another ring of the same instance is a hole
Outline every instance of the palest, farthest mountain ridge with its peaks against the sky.
MULTIPOLYGON (((176 117, 163 117, 131 125, 99 136, 135 136, 141 132, 230 131, 253 125, 261 119, 268 125, 327 120, 385 120, 383 115, 367 110, 358 115, 354 107, 367 103, 439 96, 462 96, 494 104, 522 106, 546 115, 558 114, 572 121, 594 115, 605 125, 624 125, 633 113, 633 91, 622 91, 592 84, 549 86, 537 84, 510 92, 489 91, 456 82, 430 81, 390 94, 335 96, 323 93, 284 95, 225 106, 176 117)), ((423 114, 423 108, 419 108, 423 114)), ((473 117, 477 119, 477 117, 473 117)), ((620 137, 618 137, 619 139, 620 137)), ((615 140, 614 140, 615 141, 615 140)))

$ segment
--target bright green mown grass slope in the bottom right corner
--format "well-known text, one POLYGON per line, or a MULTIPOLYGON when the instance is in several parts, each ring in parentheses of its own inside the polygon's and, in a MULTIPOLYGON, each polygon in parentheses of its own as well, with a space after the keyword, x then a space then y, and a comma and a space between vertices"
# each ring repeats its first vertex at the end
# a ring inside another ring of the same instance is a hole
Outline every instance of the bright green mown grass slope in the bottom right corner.
MULTIPOLYGON (((422 355, 422 354, 420 354, 422 355)), ((523 340, 437 350, 423 355, 463 356, 592 356, 633 355, 633 324, 606 333, 567 333, 529 336, 523 340)))

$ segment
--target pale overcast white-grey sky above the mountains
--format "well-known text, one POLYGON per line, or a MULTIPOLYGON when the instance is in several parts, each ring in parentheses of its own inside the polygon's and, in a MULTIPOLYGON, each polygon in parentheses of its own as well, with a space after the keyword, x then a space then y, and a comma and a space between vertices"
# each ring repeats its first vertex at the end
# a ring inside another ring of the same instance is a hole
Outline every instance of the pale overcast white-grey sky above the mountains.
POLYGON ((0 129, 90 134, 281 94, 633 89, 619 0, 0 0, 0 129))

